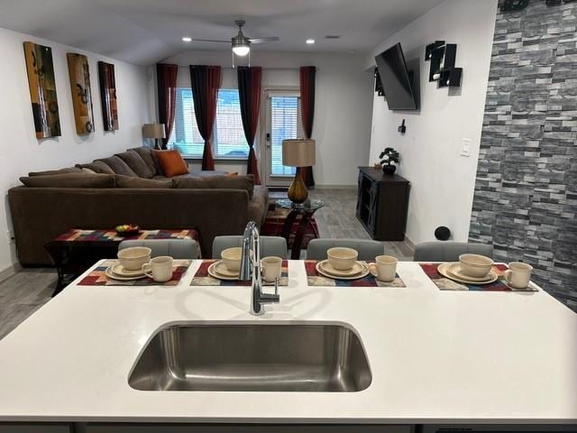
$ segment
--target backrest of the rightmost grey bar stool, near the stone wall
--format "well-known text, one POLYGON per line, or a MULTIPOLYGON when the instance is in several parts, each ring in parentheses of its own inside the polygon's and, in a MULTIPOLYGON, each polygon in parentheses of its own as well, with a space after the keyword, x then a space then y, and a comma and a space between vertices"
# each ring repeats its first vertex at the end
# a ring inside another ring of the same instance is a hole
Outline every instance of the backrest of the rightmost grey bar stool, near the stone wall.
POLYGON ((414 262, 458 262, 459 256, 473 253, 493 256, 493 245, 467 242, 425 242, 415 246, 414 262))

